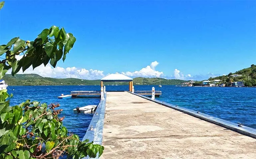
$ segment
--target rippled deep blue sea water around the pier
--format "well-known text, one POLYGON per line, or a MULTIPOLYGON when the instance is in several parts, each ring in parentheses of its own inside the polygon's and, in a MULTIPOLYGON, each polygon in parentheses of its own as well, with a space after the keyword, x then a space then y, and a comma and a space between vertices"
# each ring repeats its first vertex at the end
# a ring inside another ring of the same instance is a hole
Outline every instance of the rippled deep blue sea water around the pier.
MULTIPOLYGON (((128 85, 106 85, 107 91, 128 90, 128 85)), ((256 129, 256 88, 244 87, 179 87, 163 85, 162 95, 156 99, 176 104, 192 110, 221 118, 234 123, 244 123, 245 126, 256 129)), ((135 85, 135 90, 151 90, 152 85, 135 85)), ((64 111, 64 126, 80 139, 85 134, 93 114, 74 114, 77 106, 97 105, 99 97, 58 99, 61 94, 70 94, 72 90, 100 90, 100 86, 9 86, 8 93, 13 93, 11 105, 17 105, 27 99, 50 104, 58 102, 64 111), (14 89, 14 90, 13 90, 14 89)))

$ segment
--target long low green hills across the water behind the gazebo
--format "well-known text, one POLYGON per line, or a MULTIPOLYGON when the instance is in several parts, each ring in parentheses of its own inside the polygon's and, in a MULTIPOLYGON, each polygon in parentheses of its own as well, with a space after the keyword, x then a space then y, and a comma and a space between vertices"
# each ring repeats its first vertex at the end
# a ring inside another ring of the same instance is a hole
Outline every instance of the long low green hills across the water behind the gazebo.
MULTIPOLYGON (((7 74, 3 78, 6 83, 9 85, 99 85, 100 80, 86 80, 86 79, 75 79, 75 78, 66 78, 66 79, 56 79, 49 77, 42 77, 37 74, 17 74, 14 77, 7 74)), ((169 84, 169 85, 178 85, 186 82, 186 80, 180 79, 162 79, 162 78, 134 78, 133 83, 136 84, 169 84)), ((107 82, 106 84, 128 84, 128 82, 107 82)))

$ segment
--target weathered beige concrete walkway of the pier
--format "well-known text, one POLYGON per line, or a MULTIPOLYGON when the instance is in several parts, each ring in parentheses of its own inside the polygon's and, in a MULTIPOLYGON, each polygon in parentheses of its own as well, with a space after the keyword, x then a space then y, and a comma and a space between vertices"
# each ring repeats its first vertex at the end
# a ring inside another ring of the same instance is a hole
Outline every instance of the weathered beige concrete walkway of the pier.
POLYGON ((256 139, 129 92, 108 92, 101 159, 256 158, 256 139))

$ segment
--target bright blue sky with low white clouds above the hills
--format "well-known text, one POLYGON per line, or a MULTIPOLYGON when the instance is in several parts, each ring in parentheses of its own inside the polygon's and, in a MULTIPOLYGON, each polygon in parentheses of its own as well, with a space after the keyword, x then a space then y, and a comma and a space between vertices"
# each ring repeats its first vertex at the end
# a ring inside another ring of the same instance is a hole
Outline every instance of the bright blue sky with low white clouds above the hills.
POLYGON ((255 1, 7 0, 0 44, 16 36, 34 40, 44 28, 63 26, 77 39, 73 49, 58 69, 35 73, 202 80, 256 63, 255 14, 255 1))

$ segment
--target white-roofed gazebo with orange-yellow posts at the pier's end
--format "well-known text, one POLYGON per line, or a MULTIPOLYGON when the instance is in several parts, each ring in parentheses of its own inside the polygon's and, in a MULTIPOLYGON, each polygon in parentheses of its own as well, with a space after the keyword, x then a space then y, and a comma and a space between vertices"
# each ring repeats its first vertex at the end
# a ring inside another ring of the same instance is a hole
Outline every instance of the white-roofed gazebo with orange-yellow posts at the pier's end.
POLYGON ((132 78, 123 74, 110 74, 100 79, 100 86, 103 87, 103 82, 129 82, 129 91, 132 91, 133 81, 132 78))

